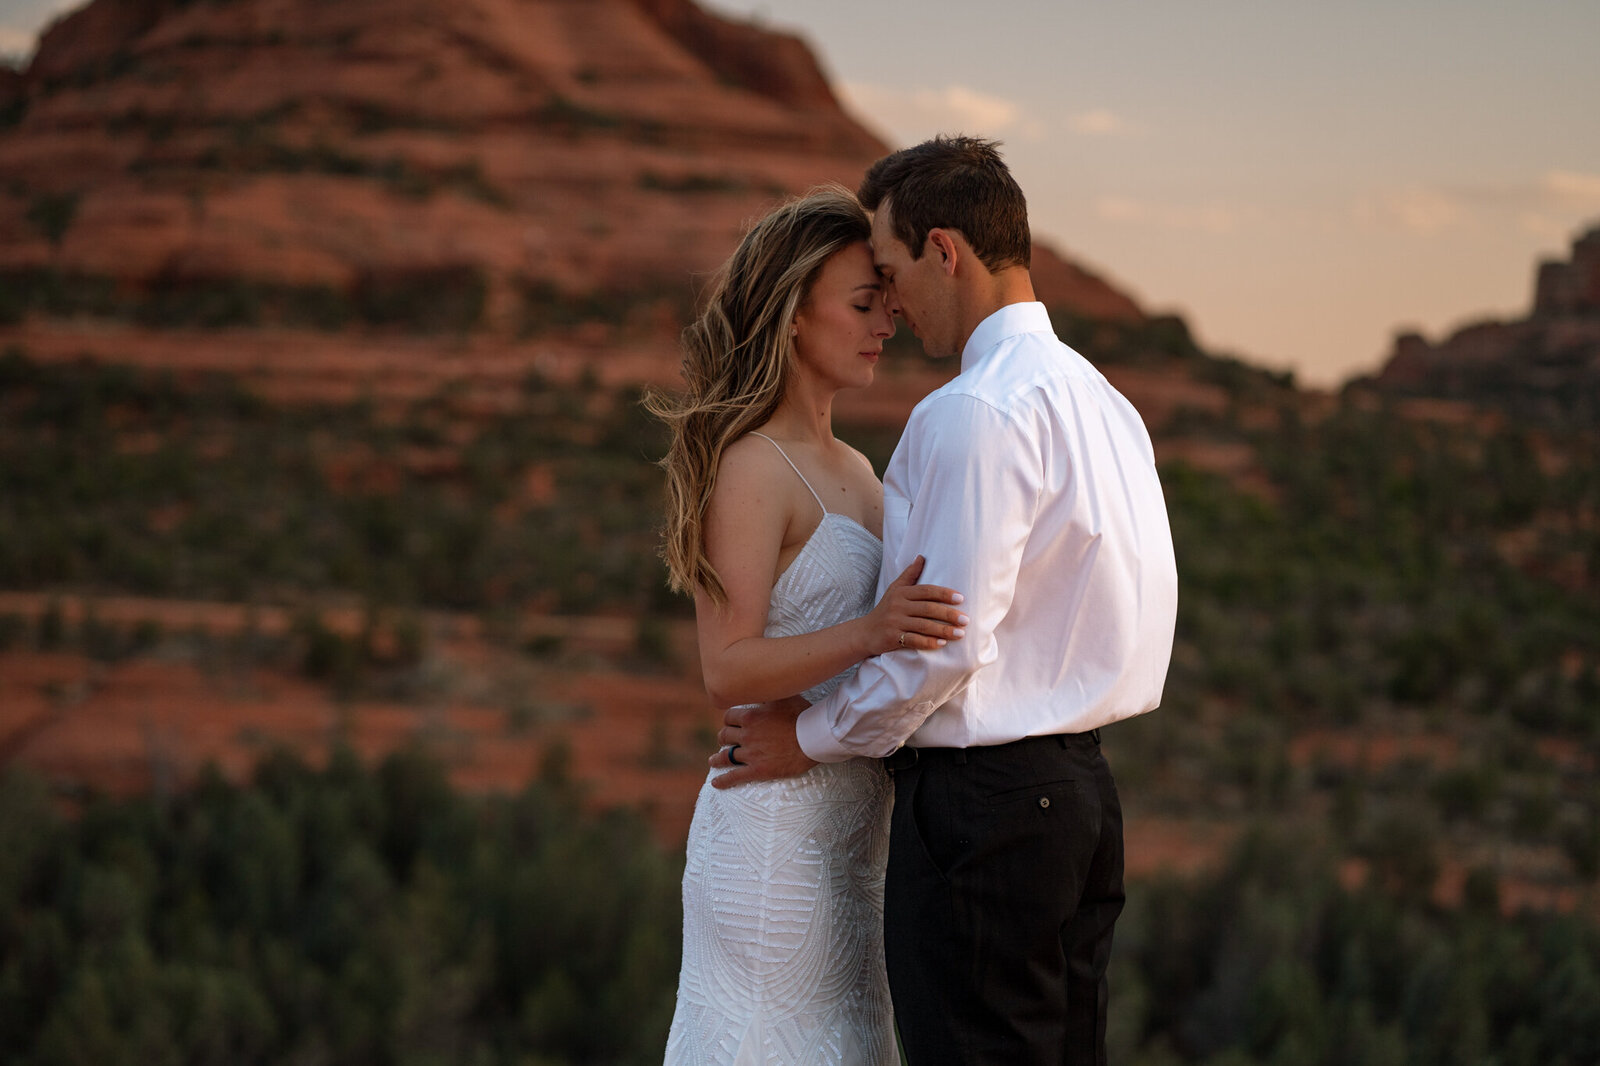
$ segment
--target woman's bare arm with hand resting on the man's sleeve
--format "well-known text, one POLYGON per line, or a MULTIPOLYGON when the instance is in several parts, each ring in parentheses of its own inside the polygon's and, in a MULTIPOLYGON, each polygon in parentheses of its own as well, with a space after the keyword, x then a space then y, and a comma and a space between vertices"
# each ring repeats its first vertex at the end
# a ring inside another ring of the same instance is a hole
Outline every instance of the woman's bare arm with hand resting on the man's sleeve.
POLYGON ((714 603, 704 592, 694 597, 701 674, 714 704, 781 699, 864 658, 938 648, 963 635, 966 618, 955 608, 962 597, 941 586, 914 584, 922 571, 918 562, 861 618, 797 637, 763 637, 784 543, 803 539, 789 538, 790 522, 808 531, 816 501, 790 491, 798 487, 779 456, 739 443, 723 456, 706 514, 706 554, 728 602, 714 603))

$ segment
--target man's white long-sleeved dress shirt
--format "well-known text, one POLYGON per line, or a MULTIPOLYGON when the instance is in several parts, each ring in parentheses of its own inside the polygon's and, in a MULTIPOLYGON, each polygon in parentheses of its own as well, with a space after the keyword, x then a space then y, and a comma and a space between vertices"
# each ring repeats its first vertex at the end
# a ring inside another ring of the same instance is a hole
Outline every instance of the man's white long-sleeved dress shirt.
POLYGON ((800 714, 818 762, 1083 733, 1160 703, 1178 568, 1138 411, 1043 304, 984 319, 883 475, 878 595, 917 555, 966 637, 891 651, 800 714))

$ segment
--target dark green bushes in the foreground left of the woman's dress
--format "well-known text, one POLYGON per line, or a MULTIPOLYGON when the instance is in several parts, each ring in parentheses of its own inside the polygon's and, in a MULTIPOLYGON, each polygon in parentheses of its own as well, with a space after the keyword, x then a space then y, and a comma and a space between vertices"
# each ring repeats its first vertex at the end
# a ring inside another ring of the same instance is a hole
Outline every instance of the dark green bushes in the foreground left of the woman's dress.
POLYGON ((0 779, 11 1063, 643 1063, 677 869, 560 767, 469 802, 414 752, 91 800, 0 779), (619 1024, 626 1020, 626 1024, 619 1024))

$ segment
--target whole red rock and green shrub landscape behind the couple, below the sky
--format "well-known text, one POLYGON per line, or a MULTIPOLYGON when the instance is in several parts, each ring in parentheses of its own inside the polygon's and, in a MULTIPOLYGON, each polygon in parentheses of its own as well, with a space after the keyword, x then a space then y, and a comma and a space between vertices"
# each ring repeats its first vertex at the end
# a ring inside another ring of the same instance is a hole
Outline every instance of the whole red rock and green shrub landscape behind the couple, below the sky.
MULTIPOLYGON (((6 1063, 659 1061, 718 715, 640 397, 880 150, 688 0, 94 0, 0 70, 6 1063)), ((1037 253, 1181 579, 1117 1061, 1600 1061, 1584 242, 1338 394, 1037 253)), ((902 331, 837 432, 949 373, 902 331)))

